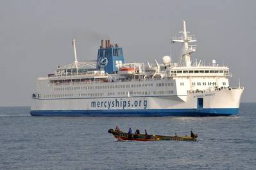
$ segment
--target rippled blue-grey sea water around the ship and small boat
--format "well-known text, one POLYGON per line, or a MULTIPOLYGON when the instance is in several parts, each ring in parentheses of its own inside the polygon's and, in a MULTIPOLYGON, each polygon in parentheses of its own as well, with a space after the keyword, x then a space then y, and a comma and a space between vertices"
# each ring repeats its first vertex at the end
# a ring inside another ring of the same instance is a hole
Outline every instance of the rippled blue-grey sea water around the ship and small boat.
POLYGON ((230 117, 32 117, 0 108, 0 169, 256 169, 256 103, 230 117), (118 125, 198 141, 119 142, 118 125))

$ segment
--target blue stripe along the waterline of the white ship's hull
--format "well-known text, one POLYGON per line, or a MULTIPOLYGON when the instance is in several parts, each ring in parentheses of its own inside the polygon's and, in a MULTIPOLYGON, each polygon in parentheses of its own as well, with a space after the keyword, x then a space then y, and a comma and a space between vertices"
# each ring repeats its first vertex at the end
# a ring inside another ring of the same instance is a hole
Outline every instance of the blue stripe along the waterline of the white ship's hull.
POLYGON ((239 108, 145 109, 145 110, 31 110, 37 116, 218 116, 235 115, 239 108))

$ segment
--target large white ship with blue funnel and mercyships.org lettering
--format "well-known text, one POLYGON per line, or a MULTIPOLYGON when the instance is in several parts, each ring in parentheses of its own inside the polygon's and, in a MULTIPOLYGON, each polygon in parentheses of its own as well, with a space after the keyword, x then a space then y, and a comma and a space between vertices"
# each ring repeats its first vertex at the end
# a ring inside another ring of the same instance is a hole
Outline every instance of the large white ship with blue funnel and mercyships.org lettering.
POLYGON ((196 38, 183 21, 180 63, 164 56, 162 64, 125 63, 123 49, 101 40, 96 61, 57 67, 37 78, 31 115, 42 116, 208 116, 239 113, 244 88, 230 87, 229 68, 191 62, 196 38))

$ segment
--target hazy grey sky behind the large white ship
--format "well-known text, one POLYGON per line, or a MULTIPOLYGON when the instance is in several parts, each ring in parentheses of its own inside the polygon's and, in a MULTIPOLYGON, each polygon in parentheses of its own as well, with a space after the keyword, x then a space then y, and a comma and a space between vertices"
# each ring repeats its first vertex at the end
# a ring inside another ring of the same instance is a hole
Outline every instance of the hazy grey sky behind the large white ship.
MULTIPOLYGON (((96 59, 101 38, 123 47, 126 62, 153 62, 170 53, 171 37, 187 30, 198 38, 192 55, 230 67, 256 101, 256 1, 0 1, 0 106, 30 106, 37 76, 78 60, 96 59)), ((180 60, 178 44, 172 60, 180 60)))

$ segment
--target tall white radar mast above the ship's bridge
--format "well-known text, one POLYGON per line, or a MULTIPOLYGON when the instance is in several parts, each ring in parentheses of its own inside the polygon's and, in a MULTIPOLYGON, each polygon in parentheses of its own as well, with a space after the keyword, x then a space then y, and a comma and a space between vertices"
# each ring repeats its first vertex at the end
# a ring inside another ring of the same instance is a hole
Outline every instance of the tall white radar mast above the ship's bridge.
POLYGON ((180 31, 180 33, 183 33, 182 37, 173 38, 173 42, 183 43, 180 65, 191 67, 190 54, 196 51, 196 45, 189 45, 189 42, 196 42, 196 38, 188 34, 189 31, 187 31, 185 21, 183 21, 183 31, 180 31))

